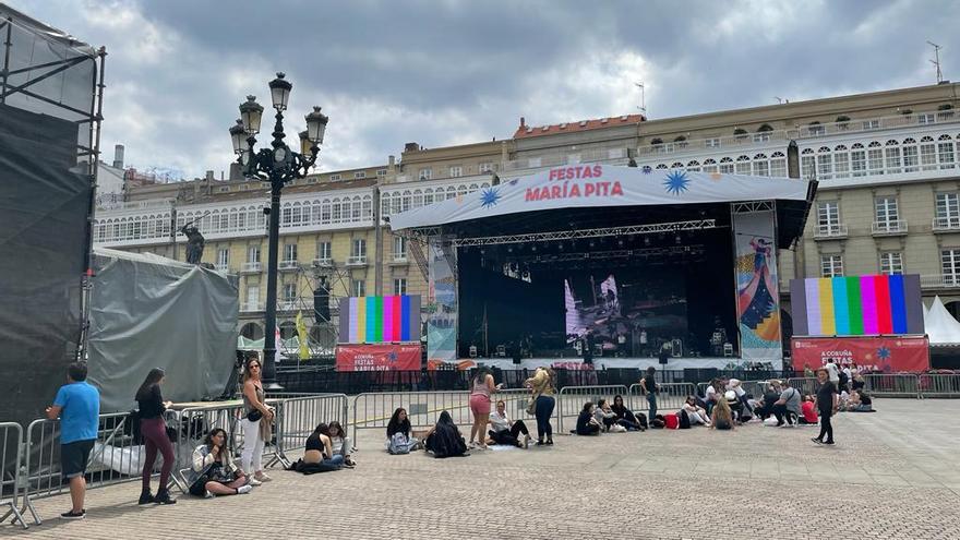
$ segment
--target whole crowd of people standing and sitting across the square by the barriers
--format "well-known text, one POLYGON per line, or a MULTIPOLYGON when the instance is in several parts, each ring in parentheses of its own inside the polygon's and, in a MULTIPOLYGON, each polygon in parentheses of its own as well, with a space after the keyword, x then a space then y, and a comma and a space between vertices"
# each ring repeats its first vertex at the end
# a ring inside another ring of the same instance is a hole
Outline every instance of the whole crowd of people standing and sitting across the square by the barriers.
MULTIPOLYGON (((266 404, 261 383, 261 362, 250 357, 244 364, 242 379, 243 451, 240 464, 233 463, 227 433, 213 429, 192 455, 188 470, 188 492, 195 496, 214 497, 249 493, 254 487, 271 481, 261 460, 264 444, 272 439, 275 411, 266 404)), ((135 393, 139 406, 140 436, 144 443, 142 490, 139 504, 175 504, 167 487, 175 463, 173 447, 166 432, 164 413, 170 401, 163 398, 161 384, 165 373, 154 369, 147 374, 135 393), (163 456, 163 466, 156 494, 151 489, 155 461, 163 456)), ((667 416, 658 409, 661 392, 656 380, 656 369, 649 368, 639 385, 646 397, 648 413, 632 411, 622 395, 607 399, 586 401, 577 417, 573 433, 598 436, 601 433, 646 431, 650 428, 704 425, 713 430, 733 430, 751 421, 768 425, 817 425, 820 432, 813 437, 817 444, 835 444, 831 418, 839 411, 873 411, 873 400, 864 391, 863 377, 855 365, 840 368, 833 360, 816 371, 819 382, 816 394, 803 395, 789 381, 771 380, 763 395, 748 394, 741 381, 718 377, 710 382, 704 395, 686 396, 676 412, 667 416), (672 417, 672 418, 671 418, 672 417)), ((53 405, 47 408, 47 417, 61 422, 61 471, 70 485, 72 507, 61 514, 64 519, 82 519, 85 516, 84 492, 86 464, 97 439, 99 394, 86 383, 86 364, 75 362, 68 369, 68 384, 57 393, 53 405)), ((524 385, 529 389, 527 412, 537 419, 536 445, 553 444, 553 427, 550 418, 555 406, 556 375, 550 368, 537 369, 524 385)), ((514 420, 503 399, 495 404, 491 396, 501 389, 493 374, 480 368, 470 382, 469 408, 473 422, 469 441, 460 433, 451 413, 442 411, 434 425, 415 436, 407 410, 397 408, 386 425, 386 451, 391 454, 409 454, 423 449, 434 457, 464 456, 471 449, 484 451, 490 445, 528 448, 532 440, 523 420, 514 420), (493 409, 493 410, 492 410, 493 409)), ((320 423, 307 437, 303 457, 291 469, 304 473, 352 468, 352 444, 343 425, 337 421, 320 423)))

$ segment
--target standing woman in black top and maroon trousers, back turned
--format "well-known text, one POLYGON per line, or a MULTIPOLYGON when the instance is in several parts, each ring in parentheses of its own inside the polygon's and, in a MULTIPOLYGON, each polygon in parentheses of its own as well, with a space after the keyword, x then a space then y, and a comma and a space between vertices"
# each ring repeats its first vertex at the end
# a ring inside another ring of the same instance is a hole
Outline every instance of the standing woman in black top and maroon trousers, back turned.
POLYGON ((160 394, 160 383, 164 382, 164 370, 154 368, 147 373, 140 389, 136 391, 136 405, 140 409, 140 433, 146 449, 146 459, 143 463, 143 489, 140 492, 137 504, 175 504, 176 499, 170 496, 167 484, 170 481, 170 470, 173 468, 173 445, 167 436, 167 423, 164 421, 164 412, 171 405, 164 401, 160 394), (160 468, 160 483, 157 485, 157 496, 151 493, 149 480, 154 472, 154 461, 157 459, 157 451, 164 456, 164 466, 160 468))

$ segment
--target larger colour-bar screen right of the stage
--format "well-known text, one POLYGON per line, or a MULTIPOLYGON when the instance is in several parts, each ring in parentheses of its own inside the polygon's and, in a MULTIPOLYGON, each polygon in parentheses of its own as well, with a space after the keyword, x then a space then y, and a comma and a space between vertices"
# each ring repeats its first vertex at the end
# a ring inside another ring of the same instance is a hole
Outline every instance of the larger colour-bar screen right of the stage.
POLYGON ((793 334, 924 333, 920 276, 849 276, 790 281, 793 334))

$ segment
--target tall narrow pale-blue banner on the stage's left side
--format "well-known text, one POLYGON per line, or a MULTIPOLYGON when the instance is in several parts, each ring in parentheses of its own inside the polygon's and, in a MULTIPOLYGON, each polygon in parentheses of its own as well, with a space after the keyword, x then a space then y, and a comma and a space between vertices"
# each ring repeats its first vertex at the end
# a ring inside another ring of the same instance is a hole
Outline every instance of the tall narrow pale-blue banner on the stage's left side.
POLYGON ((430 363, 457 360, 456 248, 440 237, 428 247, 429 284, 427 311, 427 360, 430 363))

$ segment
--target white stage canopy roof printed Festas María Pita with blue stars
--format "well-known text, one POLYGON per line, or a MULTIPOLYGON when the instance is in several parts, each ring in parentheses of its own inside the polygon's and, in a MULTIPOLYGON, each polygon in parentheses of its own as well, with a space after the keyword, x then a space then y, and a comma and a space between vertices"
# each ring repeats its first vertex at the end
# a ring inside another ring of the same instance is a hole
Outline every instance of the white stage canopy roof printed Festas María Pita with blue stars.
POLYGON ((577 165, 393 215, 391 228, 441 227, 444 232, 477 236, 531 227, 583 228, 587 221, 598 226, 604 220, 675 220, 703 215, 708 208, 715 215, 729 215, 723 209, 729 203, 775 201, 778 243, 788 247, 802 233, 812 200, 811 182, 799 179, 577 165))

